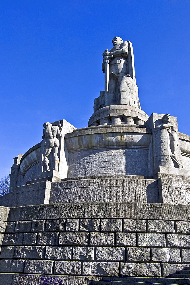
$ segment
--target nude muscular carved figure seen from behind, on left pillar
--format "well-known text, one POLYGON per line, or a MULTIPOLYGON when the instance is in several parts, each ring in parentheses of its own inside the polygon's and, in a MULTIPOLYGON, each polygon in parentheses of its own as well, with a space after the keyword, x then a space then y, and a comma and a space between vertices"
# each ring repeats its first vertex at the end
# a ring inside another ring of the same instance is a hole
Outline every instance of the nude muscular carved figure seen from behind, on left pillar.
POLYGON ((44 172, 49 169, 49 159, 48 156, 52 150, 53 152, 53 170, 58 171, 59 157, 57 156, 59 149, 59 137, 62 134, 62 127, 59 122, 58 126, 53 126, 49 122, 44 123, 43 136, 42 136, 42 154, 43 160, 42 164, 44 166, 44 172))

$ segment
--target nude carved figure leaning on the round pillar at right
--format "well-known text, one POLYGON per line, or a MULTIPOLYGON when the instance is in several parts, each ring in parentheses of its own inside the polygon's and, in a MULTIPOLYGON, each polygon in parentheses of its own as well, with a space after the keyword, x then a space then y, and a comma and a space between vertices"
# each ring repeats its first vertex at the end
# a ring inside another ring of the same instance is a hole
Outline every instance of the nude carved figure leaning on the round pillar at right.
POLYGON ((177 164, 179 169, 182 169, 183 166, 177 158, 177 146, 179 145, 179 140, 177 138, 177 128, 174 121, 171 121, 170 114, 165 114, 162 117, 163 123, 155 127, 155 131, 159 129, 166 129, 170 137, 170 156, 175 164, 177 164))

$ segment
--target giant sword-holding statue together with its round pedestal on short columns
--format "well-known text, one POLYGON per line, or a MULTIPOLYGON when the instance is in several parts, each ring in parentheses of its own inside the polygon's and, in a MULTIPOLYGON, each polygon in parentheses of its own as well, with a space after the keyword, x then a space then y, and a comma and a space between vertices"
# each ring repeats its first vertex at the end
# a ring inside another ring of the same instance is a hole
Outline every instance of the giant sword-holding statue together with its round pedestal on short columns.
POLYGON ((132 43, 129 40, 123 42, 118 36, 113 38, 112 43, 113 48, 103 53, 105 90, 94 100, 95 114, 90 117, 88 126, 121 123, 143 125, 148 116, 141 111, 139 103, 132 43), (112 105, 115 107, 108 107, 112 105), (107 117, 101 115, 104 111, 108 111, 107 117))

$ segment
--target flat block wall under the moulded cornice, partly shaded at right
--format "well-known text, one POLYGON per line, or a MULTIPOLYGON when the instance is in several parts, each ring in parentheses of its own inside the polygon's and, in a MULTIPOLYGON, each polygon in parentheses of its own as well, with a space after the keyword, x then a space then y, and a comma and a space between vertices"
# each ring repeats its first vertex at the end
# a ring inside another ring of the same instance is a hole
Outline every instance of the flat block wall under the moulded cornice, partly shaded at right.
POLYGON ((97 175, 148 176, 148 148, 104 147, 69 153, 68 177, 97 175))

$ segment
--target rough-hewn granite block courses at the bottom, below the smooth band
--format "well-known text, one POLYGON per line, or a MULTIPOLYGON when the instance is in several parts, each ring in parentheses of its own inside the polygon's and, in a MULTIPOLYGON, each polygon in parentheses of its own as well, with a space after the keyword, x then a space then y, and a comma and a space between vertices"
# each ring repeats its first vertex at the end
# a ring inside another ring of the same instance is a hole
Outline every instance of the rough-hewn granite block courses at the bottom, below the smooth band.
POLYGON ((1 272, 167 276, 190 262, 190 221, 46 219, 7 223, 1 272))

